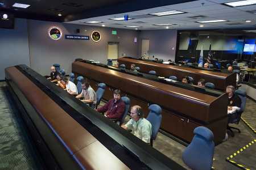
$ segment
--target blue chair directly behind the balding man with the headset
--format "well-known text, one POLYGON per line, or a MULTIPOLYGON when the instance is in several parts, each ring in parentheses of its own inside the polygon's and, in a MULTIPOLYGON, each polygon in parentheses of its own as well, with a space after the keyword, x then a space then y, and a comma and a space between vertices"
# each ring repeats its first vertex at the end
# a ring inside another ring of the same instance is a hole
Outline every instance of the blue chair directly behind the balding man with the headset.
POLYGON ((157 104, 151 104, 148 109, 150 110, 150 112, 148 113, 146 119, 151 123, 152 126, 150 145, 153 146, 153 140, 155 140, 162 122, 162 109, 157 104))

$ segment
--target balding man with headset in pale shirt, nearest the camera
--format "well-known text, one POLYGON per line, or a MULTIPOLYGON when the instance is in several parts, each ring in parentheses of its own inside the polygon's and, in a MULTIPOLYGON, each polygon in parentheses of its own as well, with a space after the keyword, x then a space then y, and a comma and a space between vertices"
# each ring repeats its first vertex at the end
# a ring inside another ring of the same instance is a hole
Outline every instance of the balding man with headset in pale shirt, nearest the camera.
POLYGON ((146 118, 143 118, 142 108, 139 105, 131 107, 131 119, 127 124, 122 125, 123 129, 131 129, 136 137, 142 139, 146 143, 150 143, 151 124, 146 118))

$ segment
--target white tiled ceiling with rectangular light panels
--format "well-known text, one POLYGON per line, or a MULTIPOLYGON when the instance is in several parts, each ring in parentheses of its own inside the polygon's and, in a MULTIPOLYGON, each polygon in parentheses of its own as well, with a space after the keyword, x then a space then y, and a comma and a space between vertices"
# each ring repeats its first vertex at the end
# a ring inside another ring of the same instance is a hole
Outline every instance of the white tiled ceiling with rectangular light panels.
MULTIPOLYGON (((166 26, 156 26, 154 24, 164 24, 172 23, 176 25, 168 26, 169 29, 215 29, 215 28, 255 28, 256 26, 256 14, 252 14, 248 11, 256 10, 256 5, 244 6, 244 7, 229 7, 222 5, 221 3, 234 2, 236 0, 200 0, 186 3, 179 3, 175 5, 162 6, 156 8, 150 8, 147 10, 132 11, 122 14, 98 16, 94 18, 75 20, 72 24, 82 24, 82 25, 93 25, 112 27, 112 28, 124 28, 124 29, 135 29, 127 28, 125 25, 138 25, 141 26, 139 30, 147 29, 166 29, 166 26), (177 14, 177 15, 167 15, 167 16, 152 16, 148 15, 154 12, 163 12, 170 10, 179 10, 187 13, 177 14), (125 14, 129 15, 129 18, 134 18, 128 21, 115 21, 110 20, 110 18, 121 18, 125 14), (190 16, 203 15, 205 18, 202 19, 191 19, 190 16), (229 22, 223 23, 205 23, 200 24, 196 21, 201 20, 217 20, 224 19, 229 22), (245 20, 251 20, 251 23, 246 23, 245 20), (100 21, 103 23, 98 24, 88 24, 84 22, 89 21, 100 21), (144 22, 144 23, 136 23, 144 22), (121 25, 122 24, 122 25, 121 25), (233 24, 233 25, 230 25, 233 24), (236 24, 236 25, 234 25, 236 24), (199 27, 199 25, 204 25, 204 27, 199 27)), ((238 0, 237 0, 238 1, 238 0)))

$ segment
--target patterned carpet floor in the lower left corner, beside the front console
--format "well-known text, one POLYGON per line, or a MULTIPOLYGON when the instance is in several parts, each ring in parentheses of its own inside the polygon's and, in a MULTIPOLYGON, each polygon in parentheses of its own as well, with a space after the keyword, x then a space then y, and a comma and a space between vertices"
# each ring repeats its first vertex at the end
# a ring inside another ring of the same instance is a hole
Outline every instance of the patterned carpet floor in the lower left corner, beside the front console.
POLYGON ((0 169, 37 169, 28 150, 18 118, 0 82, 0 169))

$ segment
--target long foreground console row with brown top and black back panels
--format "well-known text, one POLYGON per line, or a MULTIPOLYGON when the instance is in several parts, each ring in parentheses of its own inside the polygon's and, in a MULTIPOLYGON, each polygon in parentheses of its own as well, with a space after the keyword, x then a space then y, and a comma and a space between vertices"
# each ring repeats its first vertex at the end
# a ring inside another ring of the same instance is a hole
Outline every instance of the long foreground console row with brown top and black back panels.
POLYGON ((47 169, 184 169, 26 65, 5 73, 47 169))

